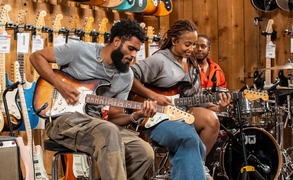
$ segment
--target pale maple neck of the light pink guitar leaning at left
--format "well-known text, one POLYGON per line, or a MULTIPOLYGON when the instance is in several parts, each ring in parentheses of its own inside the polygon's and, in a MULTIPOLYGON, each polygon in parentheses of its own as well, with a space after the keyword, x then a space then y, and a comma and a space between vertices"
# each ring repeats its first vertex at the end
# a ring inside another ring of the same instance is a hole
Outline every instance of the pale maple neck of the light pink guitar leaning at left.
POLYGON ((23 86, 22 85, 18 85, 18 94, 20 97, 20 104, 21 104, 21 110, 23 112, 23 120, 26 126, 26 136, 28 139, 28 146, 29 148, 33 149, 33 156, 36 156, 36 149, 35 149, 35 142, 32 138, 32 128, 29 122, 29 114, 27 112, 27 108, 26 108, 26 99, 24 98, 24 92, 23 92, 23 86), (31 146, 32 145, 32 146, 31 146))

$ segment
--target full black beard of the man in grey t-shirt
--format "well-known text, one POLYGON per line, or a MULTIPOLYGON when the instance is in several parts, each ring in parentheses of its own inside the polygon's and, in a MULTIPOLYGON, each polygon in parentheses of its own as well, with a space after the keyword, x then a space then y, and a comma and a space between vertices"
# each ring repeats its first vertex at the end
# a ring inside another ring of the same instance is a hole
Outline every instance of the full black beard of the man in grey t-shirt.
POLYGON ((122 62, 124 54, 121 51, 121 47, 118 47, 118 49, 113 50, 111 52, 110 57, 114 63, 114 66, 116 67, 116 69, 119 73, 127 73, 129 71, 130 63, 124 64, 122 62))

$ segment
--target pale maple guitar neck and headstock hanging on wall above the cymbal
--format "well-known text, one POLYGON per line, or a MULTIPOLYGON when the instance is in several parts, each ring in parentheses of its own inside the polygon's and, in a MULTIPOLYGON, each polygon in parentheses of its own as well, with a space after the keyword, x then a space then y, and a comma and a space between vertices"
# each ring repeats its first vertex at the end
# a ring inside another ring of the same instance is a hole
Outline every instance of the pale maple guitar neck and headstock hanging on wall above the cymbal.
MULTIPOLYGON (((272 28, 273 23, 274 23, 273 19, 270 19, 267 22, 267 27, 265 30, 265 36, 267 37, 266 46, 271 41, 271 34, 273 32, 273 28, 272 28)), ((266 68, 270 68, 270 67, 271 67, 271 58, 266 58, 266 68)), ((266 70, 264 87, 271 87, 273 85, 271 79, 272 79, 271 70, 266 70)))

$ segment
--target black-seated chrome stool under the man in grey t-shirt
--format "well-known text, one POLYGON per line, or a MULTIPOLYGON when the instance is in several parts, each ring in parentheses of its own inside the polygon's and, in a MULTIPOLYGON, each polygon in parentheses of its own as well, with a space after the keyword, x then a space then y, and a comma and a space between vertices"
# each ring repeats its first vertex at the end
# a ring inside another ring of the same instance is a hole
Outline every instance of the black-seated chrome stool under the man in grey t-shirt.
MULTIPOLYGON (((81 154, 86 155, 89 159, 89 180, 94 180, 94 159, 91 154, 82 152, 82 151, 73 151, 71 149, 66 148, 54 140, 47 138, 44 139, 44 149, 48 151, 56 151, 55 155, 52 158, 52 180, 58 180, 58 157, 59 155, 67 155, 67 154, 81 154)), ((63 167, 64 168, 64 167, 63 167)))

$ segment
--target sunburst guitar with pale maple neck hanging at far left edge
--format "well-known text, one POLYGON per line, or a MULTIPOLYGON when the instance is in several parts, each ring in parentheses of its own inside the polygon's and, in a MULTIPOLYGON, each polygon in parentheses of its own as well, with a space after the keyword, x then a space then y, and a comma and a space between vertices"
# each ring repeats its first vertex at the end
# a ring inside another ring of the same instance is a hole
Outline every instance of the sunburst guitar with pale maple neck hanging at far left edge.
MULTIPOLYGON (((10 18, 8 16, 8 12, 11 10, 11 6, 6 4, 2 6, 1 10, 1 20, 0 22, 2 24, 6 24, 6 22, 10 22, 10 18)), ((5 32, 5 26, 0 26, 0 34, 3 34, 5 32)), ((9 131, 8 127, 8 122, 7 122, 7 116, 5 113, 5 107, 4 107, 4 102, 3 102, 3 92, 6 88, 6 79, 8 84, 12 84, 12 82, 9 81, 8 79, 8 74, 7 77, 5 78, 5 53, 0 53, 0 85, 1 85, 1 94, 0 94, 0 109, 1 109, 1 117, 3 116, 4 118, 4 127, 3 131, 9 131)), ((20 107, 17 104, 17 89, 14 89, 14 91, 8 91, 6 94, 6 101, 7 101, 7 106, 8 106, 8 111, 9 111, 9 116, 10 116, 10 121, 12 128, 16 130, 17 128, 20 127, 22 123, 22 116, 20 112, 20 107)))

